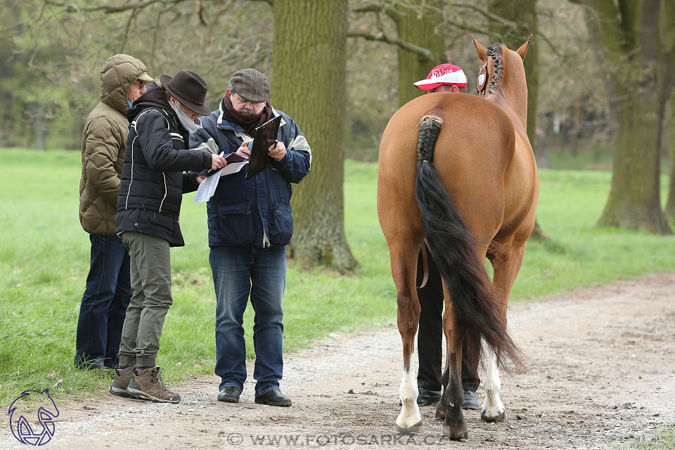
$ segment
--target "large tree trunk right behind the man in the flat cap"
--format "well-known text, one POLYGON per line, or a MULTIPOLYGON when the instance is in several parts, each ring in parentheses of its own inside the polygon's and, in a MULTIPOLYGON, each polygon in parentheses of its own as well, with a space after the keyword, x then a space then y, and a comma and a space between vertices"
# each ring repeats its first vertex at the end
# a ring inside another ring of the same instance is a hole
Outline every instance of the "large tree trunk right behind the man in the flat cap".
POLYGON ((304 268, 351 271, 342 189, 345 153, 347 0, 274 1, 271 98, 307 137, 311 171, 295 188, 289 254, 304 268))

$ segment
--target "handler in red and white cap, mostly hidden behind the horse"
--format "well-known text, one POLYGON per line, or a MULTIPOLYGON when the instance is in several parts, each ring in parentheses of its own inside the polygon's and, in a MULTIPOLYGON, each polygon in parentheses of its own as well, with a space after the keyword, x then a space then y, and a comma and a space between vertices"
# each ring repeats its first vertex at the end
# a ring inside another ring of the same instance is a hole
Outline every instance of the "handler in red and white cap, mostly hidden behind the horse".
MULTIPOLYGON (((456 65, 449 63, 437 65, 429 75, 416 83, 419 89, 432 92, 465 93, 466 75, 456 65)), ((447 383, 447 373, 441 377, 443 346, 443 282, 431 253, 423 249, 418 256, 417 295, 420 300, 420 326, 417 335, 417 352, 420 368, 417 375, 420 406, 437 404, 441 399, 441 378, 447 383), (424 279, 422 251, 428 256, 427 282, 424 279)), ((463 409, 478 409, 476 390, 480 384, 475 368, 470 364, 466 346, 462 350, 462 387, 464 389, 463 409)))

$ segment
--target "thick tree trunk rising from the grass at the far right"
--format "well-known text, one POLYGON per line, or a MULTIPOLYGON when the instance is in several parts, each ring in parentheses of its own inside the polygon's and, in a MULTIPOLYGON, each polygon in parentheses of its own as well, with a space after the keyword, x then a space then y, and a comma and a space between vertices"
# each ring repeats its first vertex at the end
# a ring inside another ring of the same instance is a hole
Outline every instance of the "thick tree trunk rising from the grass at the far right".
POLYGON ((608 68, 605 85, 619 125, 610 196, 599 224, 669 234, 659 185, 660 1, 586 0, 586 22, 598 60, 608 68))

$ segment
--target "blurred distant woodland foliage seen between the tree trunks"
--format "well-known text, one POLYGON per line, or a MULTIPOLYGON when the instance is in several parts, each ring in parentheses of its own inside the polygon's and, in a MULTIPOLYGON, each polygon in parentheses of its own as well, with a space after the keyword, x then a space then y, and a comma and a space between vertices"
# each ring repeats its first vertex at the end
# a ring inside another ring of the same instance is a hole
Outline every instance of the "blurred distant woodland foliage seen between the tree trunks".
MULTIPOLYGON (((86 6, 121 3, 88 1, 86 6)), ((214 108, 233 72, 256 68, 272 80, 274 104, 278 94, 272 65, 274 9, 265 1, 204 1, 202 23, 199 3, 169 1, 150 4, 141 11, 66 13, 65 6, 51 2, 1 1, 1 146, 79 150, 84 119, 100 94, 98 72, 114 53, 143 60, 155 77, 173 75, 183 68, 195 70, 209 83, 208 102, 214 108), (176 4, 167 6, 172 3, 176 4)), ((335 92, 347 98, 345 156, 355 160, 377 160, 380 136, 399 108, 399 46, 357 36, 375 37, 380 27, 390 36, 397 35, 393 22, 380 23, 377 15, 366 13, 364 5, 374 8, 378 3, 406 2, 349 2, 348 23, 353 37, 347 49, 347 89, 335 92)), ((420 2, 410 2, 415 3, 420 2)), ((471 37, 483 44, 492 43, 484 26, 486 18, 480 13, 480 9, 488 11, 487 3, 447 4, 449 11, 445 11, 446 18, 438 30, 444 37, 444 54, 436 62, 461 66, 474 92, 480 61, 471 37)), ((417 13, 410 10, 411 15, 417 13)), ((537 13, 541 34, 534 36, 533 44, 540 49, 536 129, 539 165, 555 166, 555 161, 546 158, 546 150, 561 149, 575 156, 587 155, 598 167, 607 168, 615 129, 608 120, 602 68, 590 45, 584 8, 570 2, 540 0, 537 13)), ((428 29, 425 34, 429 34, 428 29)), ((519 39, 525 41, 528 35, 525 30, 519 39)), ((418 73, 417 79, 423 79, 432 67, 418 73)), ((323 89, 331 90, 332 86, 323 89)), ((417 89, 412 92, 423 94, 417 89)), ((296 86, 295 93, 311 101, 312 94, 304 86, 296 86)))

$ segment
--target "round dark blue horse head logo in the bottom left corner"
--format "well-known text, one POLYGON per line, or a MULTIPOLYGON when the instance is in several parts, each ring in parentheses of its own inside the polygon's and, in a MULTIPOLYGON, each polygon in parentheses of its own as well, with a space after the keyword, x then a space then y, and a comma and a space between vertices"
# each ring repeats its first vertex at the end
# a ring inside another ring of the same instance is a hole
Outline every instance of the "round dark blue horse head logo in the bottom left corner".
POLYGON ((21 392, 21 395, 9 406, 8 414, 12 434, 22 444, 35 446, 44 445, 51 441, 54 435, 54 419, 58 417, 58 408, 53 399, 49 397, 49 389, 21 392), (32 403, 36 400, 39 401, 40 407, 37 410, 37 420, 34 419, 34 411, 26 413, 22 408, 22 404, 27 403, 29 396, 32 403), (33 418, 33 420, 29 421, 26 417, 33 418), (37 428, 38 423, 41 429, 33 430, 33 427, 37 428))

